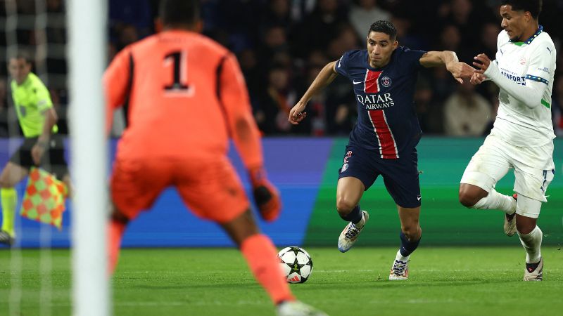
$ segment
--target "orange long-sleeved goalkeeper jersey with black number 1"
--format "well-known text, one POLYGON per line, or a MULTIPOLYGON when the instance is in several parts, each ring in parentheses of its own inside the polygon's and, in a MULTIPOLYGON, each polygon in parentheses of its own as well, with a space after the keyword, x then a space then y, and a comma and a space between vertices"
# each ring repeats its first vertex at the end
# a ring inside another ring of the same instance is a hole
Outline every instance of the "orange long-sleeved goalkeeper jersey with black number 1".
POLYGON ((118 158, 226 154, 232 136, 247 167, 262 165, 239 64, 208 37, 171 30, 129 45, 110 63, 103 84, 108 129, 113 110, 125 105, 118 158))

